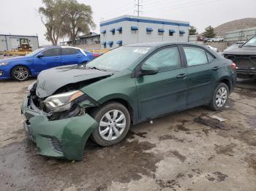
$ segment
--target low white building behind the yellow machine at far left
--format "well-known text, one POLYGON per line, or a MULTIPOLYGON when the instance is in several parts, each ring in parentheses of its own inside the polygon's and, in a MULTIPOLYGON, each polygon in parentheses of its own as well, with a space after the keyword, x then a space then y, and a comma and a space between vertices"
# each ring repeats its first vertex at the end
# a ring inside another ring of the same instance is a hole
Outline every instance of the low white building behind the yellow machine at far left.
POLYGON ((0 34, 0 51, 16 50, 20 47, 20 42, 29 43, 32 50, 39 47, 38 36, 0 34))

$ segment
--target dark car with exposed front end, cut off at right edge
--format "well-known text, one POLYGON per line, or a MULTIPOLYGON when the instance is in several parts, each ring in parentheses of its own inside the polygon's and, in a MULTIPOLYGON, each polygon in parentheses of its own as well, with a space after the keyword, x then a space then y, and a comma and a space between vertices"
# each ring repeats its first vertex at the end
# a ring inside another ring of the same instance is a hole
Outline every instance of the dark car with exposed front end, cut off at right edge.
POLYGON ((236 63, 238 78, 256 77, 256 36, 242 44, 233 44, 223 51, 225 58, 236 63))

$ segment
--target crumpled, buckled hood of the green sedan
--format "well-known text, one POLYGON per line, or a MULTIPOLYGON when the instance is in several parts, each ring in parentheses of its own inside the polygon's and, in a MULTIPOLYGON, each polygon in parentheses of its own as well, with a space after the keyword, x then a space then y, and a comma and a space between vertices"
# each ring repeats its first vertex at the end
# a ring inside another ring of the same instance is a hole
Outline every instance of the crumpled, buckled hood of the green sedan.
POLYGON ((37 77, 37 96, 45 98, 64 85, 112 75, 110 71, 84 69, 77 65, 61 66, 42 71, 37 77))

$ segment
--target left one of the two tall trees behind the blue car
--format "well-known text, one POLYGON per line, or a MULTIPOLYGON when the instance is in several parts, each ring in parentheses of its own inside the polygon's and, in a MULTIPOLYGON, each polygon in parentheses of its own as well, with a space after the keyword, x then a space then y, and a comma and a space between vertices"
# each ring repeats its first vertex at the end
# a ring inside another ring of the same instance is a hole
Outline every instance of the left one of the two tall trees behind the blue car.
POLYGON ((64 36, 64 3, 61 0, 42 0, 45 7, 39 7, 38 12, 45 25, 45 38, 53 45, 58 44, 59 38, 64 36))

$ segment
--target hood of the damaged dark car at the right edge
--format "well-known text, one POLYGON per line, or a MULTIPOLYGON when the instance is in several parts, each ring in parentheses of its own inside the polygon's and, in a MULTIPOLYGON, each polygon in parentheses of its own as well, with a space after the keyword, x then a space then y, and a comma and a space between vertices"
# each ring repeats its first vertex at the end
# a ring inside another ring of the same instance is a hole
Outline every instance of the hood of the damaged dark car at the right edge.
POLYGON ((227 47, 223 54, 227 55, 256 55, 256 47, 239 47, 239 44, 233 44, 227 47))

